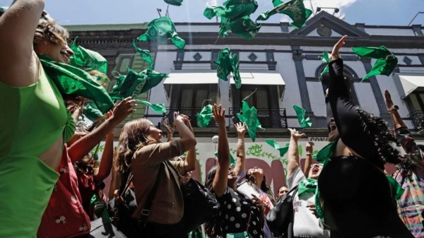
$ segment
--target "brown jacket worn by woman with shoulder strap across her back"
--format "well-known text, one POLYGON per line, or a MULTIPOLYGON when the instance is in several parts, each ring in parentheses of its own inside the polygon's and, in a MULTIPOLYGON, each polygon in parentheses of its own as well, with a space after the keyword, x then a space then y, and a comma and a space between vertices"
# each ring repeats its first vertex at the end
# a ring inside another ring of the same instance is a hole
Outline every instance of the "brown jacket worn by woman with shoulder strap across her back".
MULTIPOLYGON (((139 218, 146 198, 159 174, 161 181, 153 198, 148 221, 160 224, 176 224, 182 219, 184 204, 179 188, 179 176, 167 163, 164 163, 163 171, 159 171, 160 163, 182 155, 182 153, 184 153, 184 146, 180 140, 146 145, 134 153, 131 171, 134 174, 133 183, 137 209, 133 218, 139 218)), ((179 173, 185 174, 184 161, 170 162, 179 173)))

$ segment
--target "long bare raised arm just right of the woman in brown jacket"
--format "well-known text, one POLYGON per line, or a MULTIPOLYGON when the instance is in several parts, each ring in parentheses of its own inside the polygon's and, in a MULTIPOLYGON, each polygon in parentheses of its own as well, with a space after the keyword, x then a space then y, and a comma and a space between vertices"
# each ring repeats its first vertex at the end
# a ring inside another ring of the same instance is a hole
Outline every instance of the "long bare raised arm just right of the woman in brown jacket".
POLYGON ((221 105, 213 105, 213 119, 218 124, 218 167, 212 182, 216 196, 222 196, 227 190, 228 169, 230 168, 230 146, 228 145, 227 129, 225 127, 225 109, 221 105))

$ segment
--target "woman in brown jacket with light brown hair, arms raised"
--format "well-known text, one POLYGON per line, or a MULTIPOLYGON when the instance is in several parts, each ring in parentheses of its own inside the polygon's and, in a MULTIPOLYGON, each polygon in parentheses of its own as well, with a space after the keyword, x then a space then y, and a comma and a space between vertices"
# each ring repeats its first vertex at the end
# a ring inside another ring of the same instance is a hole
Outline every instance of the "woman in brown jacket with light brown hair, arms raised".
MULTIPOLYGON (((174 125, 180 138, 160 143, 162 131, 148 119, 134 119, 127 122, 119 137, 117 155, 118 170, 122 174, 131 169, 136 194, 137 209, 135 220, 141 218, 141 212, 156 179, 160 179, 158 189, 153 196, 150 215, 146 225, 139 222, 136 237, 184 237, 179 229, 184 203, 179 188, 179 174, 194 169, 194 163, 172 161, 170 159, 189 151, 196 153, 196 138, 192 132, 188 117, 175 113, 174 125)), ((187 234, 185 234, 187 235, 187 234)))

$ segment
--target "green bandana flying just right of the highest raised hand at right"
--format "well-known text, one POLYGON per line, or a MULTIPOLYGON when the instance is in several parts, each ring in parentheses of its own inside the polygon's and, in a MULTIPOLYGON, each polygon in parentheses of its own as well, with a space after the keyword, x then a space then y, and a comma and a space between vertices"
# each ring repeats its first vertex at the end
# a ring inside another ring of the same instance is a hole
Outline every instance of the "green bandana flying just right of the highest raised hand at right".
POLYGON ((353 53, 361 57, 377 59, 377 61, 375 61, 374 66, 372 66, 370 72, 368 72, 367 75, 363 77, 362 81, 365 81, 365 79, 376 75, 389 76, 390 73, 394 71, 394 68, 396 68, 396 65, 398 63, 398 59, 396 58, 396 56, 394 56, 393 53, 389 52, 389 49, 384 46, 378 48, 353 47, 352 51, 353 53))

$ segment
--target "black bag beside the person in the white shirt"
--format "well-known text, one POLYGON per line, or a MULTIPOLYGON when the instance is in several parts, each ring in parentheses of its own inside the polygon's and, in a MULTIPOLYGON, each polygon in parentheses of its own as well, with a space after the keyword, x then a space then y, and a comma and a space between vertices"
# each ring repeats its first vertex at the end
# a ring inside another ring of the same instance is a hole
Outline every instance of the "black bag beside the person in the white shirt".
POLYGON ((266 222, 269 230, 274 236, 293 237, 293 196, 298 191, 298 186, 290 189, 287 194, 281 197, 276 206, 274 206, 266 215, 266 222))

